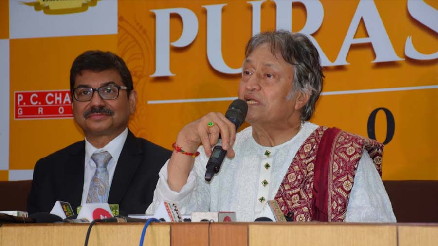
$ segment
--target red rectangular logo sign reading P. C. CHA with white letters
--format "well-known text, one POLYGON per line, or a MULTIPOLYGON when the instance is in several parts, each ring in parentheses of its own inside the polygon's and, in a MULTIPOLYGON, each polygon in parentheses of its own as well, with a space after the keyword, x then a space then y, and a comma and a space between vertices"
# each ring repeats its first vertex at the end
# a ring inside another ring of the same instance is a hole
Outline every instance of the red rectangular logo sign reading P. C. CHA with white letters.
POLYGON ((15 119, 73 117, 70 90, 15 91, 15 119))

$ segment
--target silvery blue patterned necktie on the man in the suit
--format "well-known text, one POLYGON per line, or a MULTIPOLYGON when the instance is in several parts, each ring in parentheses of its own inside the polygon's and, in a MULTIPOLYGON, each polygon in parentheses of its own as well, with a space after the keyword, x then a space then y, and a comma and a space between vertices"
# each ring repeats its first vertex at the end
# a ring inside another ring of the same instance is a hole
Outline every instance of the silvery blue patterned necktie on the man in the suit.
POLYGON ((96 163, 96 172, 90 182, 87 195, 87 203, 102 203, 108 201, 110 188, 108 187, 109 175, 107 166, 112 159, 108 151, 94 153, 91 159, 96 163))

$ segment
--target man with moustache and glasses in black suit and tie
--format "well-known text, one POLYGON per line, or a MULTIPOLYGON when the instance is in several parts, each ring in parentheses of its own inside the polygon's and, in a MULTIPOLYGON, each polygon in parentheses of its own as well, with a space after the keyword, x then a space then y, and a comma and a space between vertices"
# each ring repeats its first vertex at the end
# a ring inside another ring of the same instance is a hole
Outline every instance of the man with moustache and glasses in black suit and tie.
POLYGON ((129 131, 137 92, 125 62, 110 52, 82 53, 70 70, 70 90, 85 140, 38 160, 29 214, 49 212, 57 200, 73 210, 108 202, 119 204, 121 214, 144 213, 171 151, 129 131))

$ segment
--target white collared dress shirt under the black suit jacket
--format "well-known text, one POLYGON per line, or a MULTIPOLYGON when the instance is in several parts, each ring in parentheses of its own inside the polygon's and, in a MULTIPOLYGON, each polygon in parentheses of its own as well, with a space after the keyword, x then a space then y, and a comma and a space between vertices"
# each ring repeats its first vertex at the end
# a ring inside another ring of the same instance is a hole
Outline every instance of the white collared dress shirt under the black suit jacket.
POLYGON ((114 171, 117 166, 117 161, 119 160, 120 153, 122 152, 123 145, 125 144, 126 138, 128 137, 128 128, 126 128, 119 136, 111 140, 103 148, 94 147, 87 138, 85 139, 85 173, 84 173, 84 188, 82 190, 82 200, 81 206, 87 202, 88 190, 90 188, 91 179, 96 172, 96 163, 91 159, 91 155, 94 153, 100 153, 108 151, 112 159, 108 163, 107 170, 109 175, 108 188, 111 188, 112 177, 114 176, 114 171))

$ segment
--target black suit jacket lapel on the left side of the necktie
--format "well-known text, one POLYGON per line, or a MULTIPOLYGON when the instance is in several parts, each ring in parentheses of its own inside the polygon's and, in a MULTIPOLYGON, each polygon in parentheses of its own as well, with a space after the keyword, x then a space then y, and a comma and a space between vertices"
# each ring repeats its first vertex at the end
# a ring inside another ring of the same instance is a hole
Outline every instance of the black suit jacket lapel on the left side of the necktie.
POLYGON ((73 146, 71 158, 66 161, 64 175, 65 201, 71 202, 73 210, 81 204, 82 190, 84 188, 85 170, 85 141, 80 141, 73 146))

